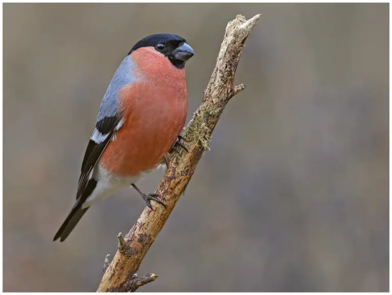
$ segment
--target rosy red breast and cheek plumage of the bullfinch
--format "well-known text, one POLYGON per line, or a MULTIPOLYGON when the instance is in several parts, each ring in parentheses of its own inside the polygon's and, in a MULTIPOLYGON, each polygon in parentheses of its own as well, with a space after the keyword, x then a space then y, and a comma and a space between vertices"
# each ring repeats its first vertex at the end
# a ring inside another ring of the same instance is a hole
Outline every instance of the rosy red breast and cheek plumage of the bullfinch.
POLYGON ((105 170, 134 176, 154 168, 173 146, 187 115, 185 69, 178 69, 153 47, 130 56, 139 78, 119 91, 124 124, 101 157, 105 170))

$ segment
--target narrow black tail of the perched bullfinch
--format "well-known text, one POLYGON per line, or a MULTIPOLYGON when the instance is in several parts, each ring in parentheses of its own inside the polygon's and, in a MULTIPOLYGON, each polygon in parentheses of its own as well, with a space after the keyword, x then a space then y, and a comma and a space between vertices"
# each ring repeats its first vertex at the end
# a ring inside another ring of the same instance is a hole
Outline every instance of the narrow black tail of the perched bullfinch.
POLYGON ((96 181, 94 179, 90 179, 87 183, 87 187, 83 192, 83 195, 76 201, 74 207, 71 212, 68 214, 67 218, 61 225, 60 229, 57 231, 53 240, 57 240, 60 238, 60 242, 63 242, 67 238, 67 236, 71 233, 72 229, 78 224, 79 220, 83 217, 84 213, 86 213, 87 208, 82 209, 83 203, 87 200, 87 198, 91 195, 92 191, 95 189, 96 181))

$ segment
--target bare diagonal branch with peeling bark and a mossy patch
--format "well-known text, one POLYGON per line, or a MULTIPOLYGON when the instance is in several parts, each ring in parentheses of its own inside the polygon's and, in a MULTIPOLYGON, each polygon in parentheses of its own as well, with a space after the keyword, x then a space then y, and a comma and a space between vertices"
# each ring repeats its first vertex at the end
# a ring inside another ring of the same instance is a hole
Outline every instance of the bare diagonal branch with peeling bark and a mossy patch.
POLYGON ((260 14, 257 14, 247 21, 242 15, 237 15, 228 23, 214 71, 204 91, 203 102, 193 114, 183 135, 189 152, 181 151, 165 156, 167 169, 156 193, 165 203, 166 209, 157 206, 156 203, 153 203, 154 211, 148 207, 144 208, 135 225, 125 236, 125 247, 120 245, 120 250, 113 257, 97 291, 134 291, 157 277, 146 275, 137 278, 136 272, 185 191, 204 151, 209 150, 208 143, 212 131, 226 104, 245 88, 243 84, 234 86, 234 75, 244 42, 259 18, 260 14))

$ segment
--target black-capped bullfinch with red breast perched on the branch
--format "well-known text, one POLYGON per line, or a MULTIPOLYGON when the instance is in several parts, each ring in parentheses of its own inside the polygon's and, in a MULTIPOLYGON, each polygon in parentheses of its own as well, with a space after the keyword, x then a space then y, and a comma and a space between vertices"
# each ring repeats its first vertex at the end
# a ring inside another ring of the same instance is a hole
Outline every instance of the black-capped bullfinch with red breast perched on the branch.
POLYGON ((188 108, 185 63, 193 55, 183 37, 162 33, 139 40, 122 60, 87 144, 76 203, 54 241, 63 242, 91 205, 125 187, 133 186, 151 209, 151 201, 165 207, 135 183, 162 167, 167 152, 186 150, 180 135, 188 108))

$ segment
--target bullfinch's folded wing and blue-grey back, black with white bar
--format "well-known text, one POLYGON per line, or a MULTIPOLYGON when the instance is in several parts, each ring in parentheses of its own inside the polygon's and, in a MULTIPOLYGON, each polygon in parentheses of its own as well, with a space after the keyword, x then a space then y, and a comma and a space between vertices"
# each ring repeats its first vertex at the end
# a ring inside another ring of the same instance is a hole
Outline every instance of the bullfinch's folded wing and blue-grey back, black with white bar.
MULTIPOLYGON (((97 115, 95 129, 90 137, 83 158, 78 192, 76 195, 77 199, 84 196, 83 192, 86 189, 92 169, 100 159, 114 133, 122 126, 123 114, 119 111, 118 91, 128 84, 138 81, 133 75, 133 72, 134 65, 132 59, 130 56, 127 56, 122 60, 106 90, 97 115)), ((83 203, 85 200, 81 201, 81 203, 83 203)))

